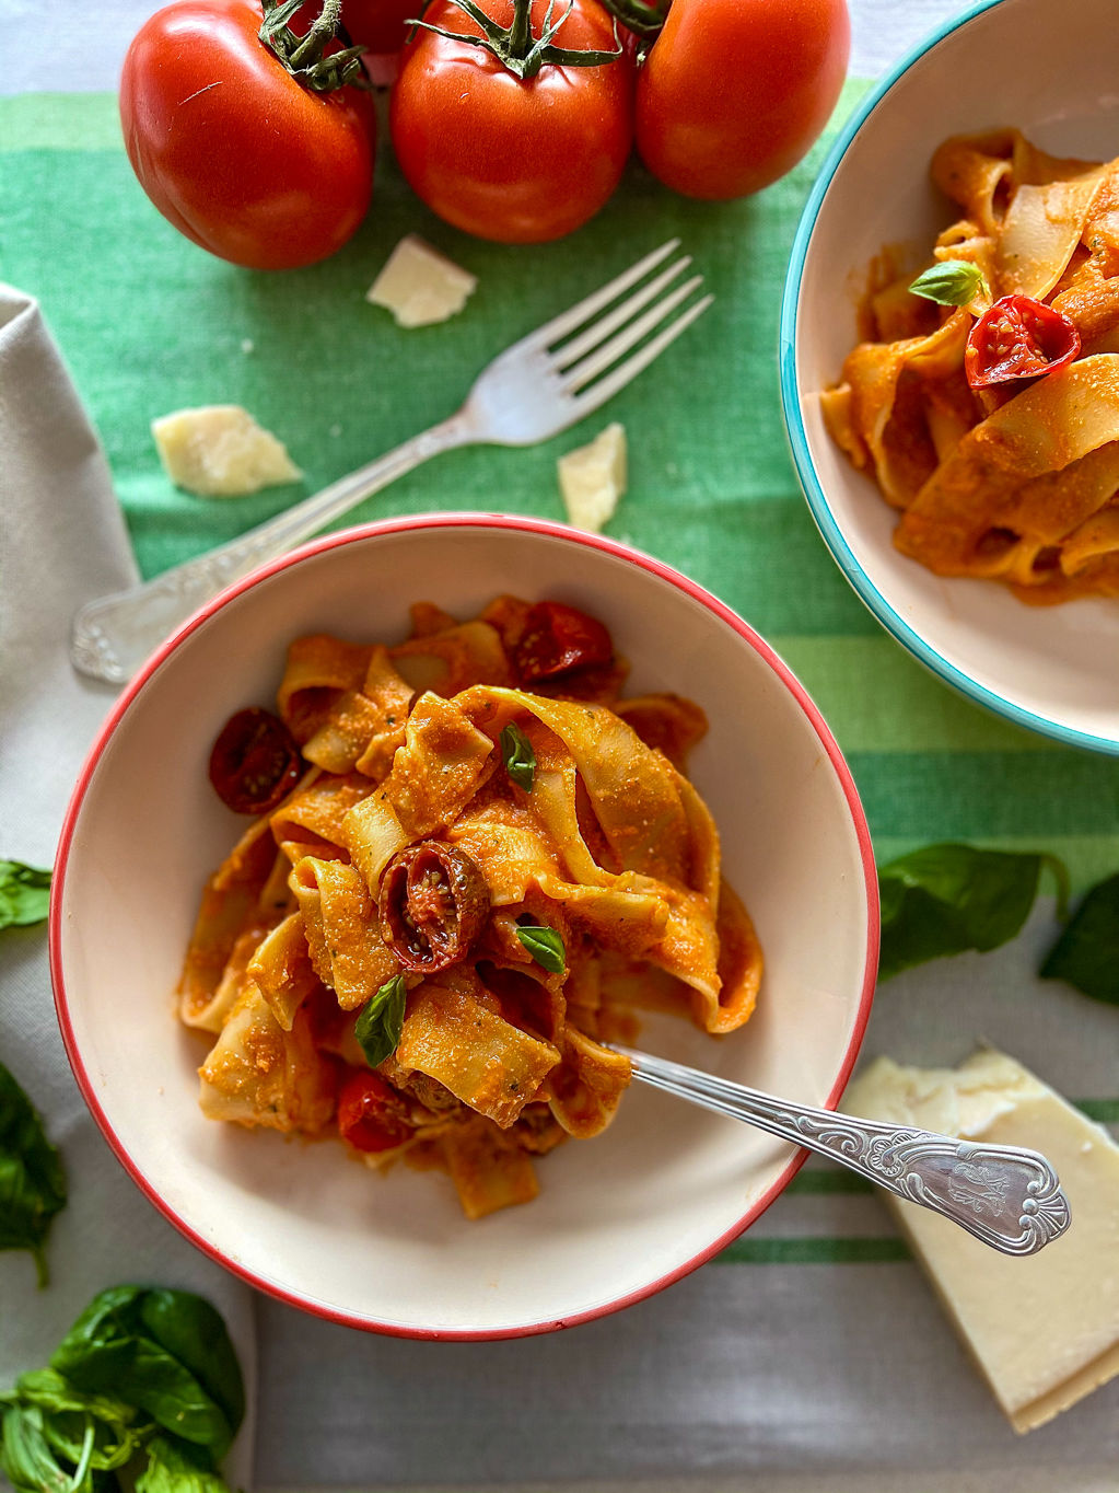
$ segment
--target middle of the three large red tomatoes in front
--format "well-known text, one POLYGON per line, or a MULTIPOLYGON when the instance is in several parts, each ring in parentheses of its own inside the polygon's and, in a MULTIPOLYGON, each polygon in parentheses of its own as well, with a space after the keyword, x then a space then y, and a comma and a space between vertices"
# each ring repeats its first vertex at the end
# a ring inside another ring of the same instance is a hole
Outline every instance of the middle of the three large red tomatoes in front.
MULTIPOLYGON (((501 25, 512 0, 480 0, 501 25)), ((560 7, 557 7, 560 9, 560 7)), ((548 0, 533 0, 539 36, 548 0)), ((482 31, 451 0, 425 19, 482 31)), ((557 46, 613 51, 597 0, 573 0, 557 46)), ((498 243, 543 243, 582 227, 621 181, 633 142, 633 64, 546 64, 519 79, 480 46, 418 31, 392 88, 389 130, 400 169, 440 218, 498 243)))

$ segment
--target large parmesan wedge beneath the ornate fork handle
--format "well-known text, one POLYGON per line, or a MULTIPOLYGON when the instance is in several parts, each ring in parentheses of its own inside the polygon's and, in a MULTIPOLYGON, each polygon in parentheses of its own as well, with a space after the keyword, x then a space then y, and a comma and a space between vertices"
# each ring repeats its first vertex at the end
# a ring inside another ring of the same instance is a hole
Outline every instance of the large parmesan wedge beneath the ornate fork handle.
POLYGON ((1018 1432, 1119 1374, 1119 1145, 1012 1057, 958 1069, 871 1063, 849 1114, 1041 1151, 1071 1226, 1040 1254, 998 1254, 946 1218, 888 1197, 956 1330, 1018 1432))

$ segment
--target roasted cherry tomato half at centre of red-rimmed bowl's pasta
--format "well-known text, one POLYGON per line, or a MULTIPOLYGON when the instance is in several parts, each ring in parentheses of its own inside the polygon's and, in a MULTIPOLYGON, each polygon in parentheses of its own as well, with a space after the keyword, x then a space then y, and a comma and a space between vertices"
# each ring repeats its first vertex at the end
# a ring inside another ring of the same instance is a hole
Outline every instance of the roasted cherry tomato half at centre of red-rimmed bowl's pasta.
POLYGON ((380 936, 404 969, 431 975, 458 963, 485 927, 489 887, 455 845, 398 851, 380 876, 380 936))

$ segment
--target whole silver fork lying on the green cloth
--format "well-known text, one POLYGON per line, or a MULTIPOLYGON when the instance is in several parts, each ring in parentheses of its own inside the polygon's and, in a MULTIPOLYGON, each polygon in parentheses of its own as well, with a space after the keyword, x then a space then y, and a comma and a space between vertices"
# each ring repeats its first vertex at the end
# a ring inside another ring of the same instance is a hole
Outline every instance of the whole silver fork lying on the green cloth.
POLYGON ((648 278, 679 246, 679 239, 661 245, 577 306, 506 348, 477 375, 466 403, 449 420, 231 543, 85 605, 70 636, 75 669, 93 679, 124 684, 179 623, 222 587, 286 554, 421 461, 454 446, 531 446, 598 409, 713 300, 703 296, 668 320, 703 282, 701 275, 694 275, 670 288, 691 264, 686 254, 648 278), (625 296, 630 290, 633 294, 625 296), (621 296, 625 299, 606 311, 621 296))

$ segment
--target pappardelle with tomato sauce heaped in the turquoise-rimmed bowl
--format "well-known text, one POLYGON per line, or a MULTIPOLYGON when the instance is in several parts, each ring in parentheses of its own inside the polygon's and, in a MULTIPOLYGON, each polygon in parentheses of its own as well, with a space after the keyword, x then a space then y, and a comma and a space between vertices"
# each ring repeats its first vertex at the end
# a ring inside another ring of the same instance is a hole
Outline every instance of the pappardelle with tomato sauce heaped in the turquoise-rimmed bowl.
POLYGON ((937 575, 1119 596, 1119 160, 998 130, 946 140, 932 181, 964 216, 916 282, 874 267, 827 426, 937 575))

